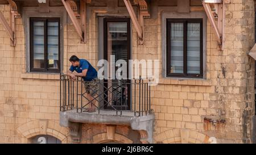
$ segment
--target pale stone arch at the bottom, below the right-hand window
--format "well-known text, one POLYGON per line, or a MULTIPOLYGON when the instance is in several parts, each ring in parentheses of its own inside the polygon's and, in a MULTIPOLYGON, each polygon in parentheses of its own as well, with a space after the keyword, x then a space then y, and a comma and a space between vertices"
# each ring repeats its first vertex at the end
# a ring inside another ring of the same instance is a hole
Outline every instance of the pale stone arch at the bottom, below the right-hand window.
POLYGON ((204 133, 190 129, 170 129, 155 136, 155 143, 208 143, 209 137, 204 133))

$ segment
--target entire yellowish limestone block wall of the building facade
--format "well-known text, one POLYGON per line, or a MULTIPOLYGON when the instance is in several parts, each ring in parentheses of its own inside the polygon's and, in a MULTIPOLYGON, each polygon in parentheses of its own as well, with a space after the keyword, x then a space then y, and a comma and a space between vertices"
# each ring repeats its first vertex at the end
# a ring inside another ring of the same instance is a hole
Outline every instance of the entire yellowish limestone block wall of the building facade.
MULTIPOLYGON (((138 45, 137 33, 132 27, 133 59, 158 59, 161 63, 159 85, 151 87, 155 143, 209 143, 210 137, 216 137, 217 143, 251 143, 255 68, 254 60, 246 52, 254 45, 255 4, 253 0, 225 2, 224 51, 218 51, 213 28, 207 22, 205 79, 162 77, 162 41, 165 40, 162 40, 160 6, 152 5, 154 15, 144 20, 144 45, 138 45)), ((92 9, 87 44, 80 43, 67 18, 63 36, 64 73, 71 55, 97 65, 101 36, 97 12, 108 12, 98 11, 105 8, 92 9)), ((0 5, 0 11, 9 22, 9 5, 0 5)), ((203 7, 199 11, 204 12, 203 7)), ((16 19, 16 37, 17 45, 11 47, 9 36, 0 24, 0 143, 27 143, 31 136, 42 133, 51 134, 63 143, 72 143, 69 129, 58 125, 59 75, 26 73, 24 25, 20 18, 16 19), (40 122, 47 122, 45 130, 39 130, 40 122)), ((106 128, 106 125, 83 124, 81 143, 108 142, 106 128), (86 137, 88 133, 93 134, 86 137)), ((129 127, 123 126, 117 127, 115 133, 123 143, 137 142, 127 131, 129 127)))

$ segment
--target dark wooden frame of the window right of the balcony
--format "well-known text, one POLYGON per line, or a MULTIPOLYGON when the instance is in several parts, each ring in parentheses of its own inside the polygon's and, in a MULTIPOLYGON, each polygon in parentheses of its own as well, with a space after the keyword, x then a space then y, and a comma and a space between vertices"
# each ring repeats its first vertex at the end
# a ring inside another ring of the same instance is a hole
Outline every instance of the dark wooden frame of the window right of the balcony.
POLYGON ((203 78, 203 19, 167 19, 167 77, 203 78), (171 70, 171 23, 183 23, 183 73, 170 73, 171 70), (200 23, 200 74, 187 73, 187 24, 200 23))

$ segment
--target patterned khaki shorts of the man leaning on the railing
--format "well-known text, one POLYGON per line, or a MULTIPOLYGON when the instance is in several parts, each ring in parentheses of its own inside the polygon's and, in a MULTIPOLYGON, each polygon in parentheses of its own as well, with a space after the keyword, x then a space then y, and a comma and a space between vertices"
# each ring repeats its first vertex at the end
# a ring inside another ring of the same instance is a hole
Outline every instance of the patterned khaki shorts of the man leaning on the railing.
POLYGON ((98 78, 94 78, 92 81, 84 81, 86 93, 90 94, 92 97, 97 95, 98 83, 100 83, 100 80, 98 78))

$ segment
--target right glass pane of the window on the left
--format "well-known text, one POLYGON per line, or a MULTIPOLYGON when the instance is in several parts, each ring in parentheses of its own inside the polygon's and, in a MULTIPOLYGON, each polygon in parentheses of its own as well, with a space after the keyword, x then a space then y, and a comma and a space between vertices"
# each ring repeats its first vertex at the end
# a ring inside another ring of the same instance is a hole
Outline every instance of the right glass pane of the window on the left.
POLYGON ((48 68, 58 69, 59 62, 59 22, 47 23, 48 68))

